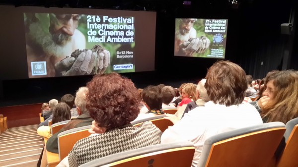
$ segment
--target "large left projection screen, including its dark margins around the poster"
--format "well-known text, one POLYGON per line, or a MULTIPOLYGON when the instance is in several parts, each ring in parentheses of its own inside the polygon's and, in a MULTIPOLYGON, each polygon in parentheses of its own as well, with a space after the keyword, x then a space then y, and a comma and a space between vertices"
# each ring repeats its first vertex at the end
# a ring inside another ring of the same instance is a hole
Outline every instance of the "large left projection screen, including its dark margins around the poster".
POLYGON ((156 12, 0 6, 4 79, 154 70, 156 12))

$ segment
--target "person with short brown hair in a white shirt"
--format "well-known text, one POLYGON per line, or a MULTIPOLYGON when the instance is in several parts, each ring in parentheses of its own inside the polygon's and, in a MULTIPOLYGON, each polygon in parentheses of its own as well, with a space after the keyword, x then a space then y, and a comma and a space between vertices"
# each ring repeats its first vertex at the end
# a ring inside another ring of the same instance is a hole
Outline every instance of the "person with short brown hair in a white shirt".
POLYGON ((192 167, 197 167, 207 138, 263 123, 252 105, 242 103, 247 81, 240 66, 230 61, 216 62, 208 69, 206 79, 205 88, 211 101, 186 113, 161 136, 161 143, 192 141, 196 148, 192 167))

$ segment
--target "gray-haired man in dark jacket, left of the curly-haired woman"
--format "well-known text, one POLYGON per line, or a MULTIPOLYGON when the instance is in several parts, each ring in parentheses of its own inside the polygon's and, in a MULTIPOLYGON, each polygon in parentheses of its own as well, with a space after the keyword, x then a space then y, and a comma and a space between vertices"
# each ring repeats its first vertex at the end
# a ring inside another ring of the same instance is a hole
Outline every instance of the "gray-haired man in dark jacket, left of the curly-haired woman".
POLYGON ((91 125, 93 119, 89 115, 89 111, 86 109, 86 93, 88 88, 80 87, 75 94, 74 104, 78 113, 78 117, 73 118, 67 124, 63 126, 57 133, 53 134, 47 141, 47 151, 52 153, 58 153, 58 134, 69 129, 91 125))

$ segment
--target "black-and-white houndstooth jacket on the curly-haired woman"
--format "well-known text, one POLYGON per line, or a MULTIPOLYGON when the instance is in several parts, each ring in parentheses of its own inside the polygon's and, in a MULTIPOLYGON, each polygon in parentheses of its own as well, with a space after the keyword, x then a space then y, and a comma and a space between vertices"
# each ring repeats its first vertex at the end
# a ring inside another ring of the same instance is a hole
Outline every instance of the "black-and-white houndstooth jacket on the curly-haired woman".
POLYGON ((140 126, 126 125, 100 135, 87 137, 75 143, 69 153, 70 167, 115 153, 133 150, 160 143, 161 131, 151 122, 140 126))

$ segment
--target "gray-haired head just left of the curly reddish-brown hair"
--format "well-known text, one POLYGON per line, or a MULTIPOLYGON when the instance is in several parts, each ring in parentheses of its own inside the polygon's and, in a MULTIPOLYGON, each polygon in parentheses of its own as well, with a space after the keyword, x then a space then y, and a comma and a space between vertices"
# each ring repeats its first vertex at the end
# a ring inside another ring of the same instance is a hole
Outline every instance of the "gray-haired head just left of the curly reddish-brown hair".
POLYGON ((86 94, 88 93, 87 87, 80 87, 75 94, 74 104, 81 110, 81 114, 88 112, 86 109, 86 94))

